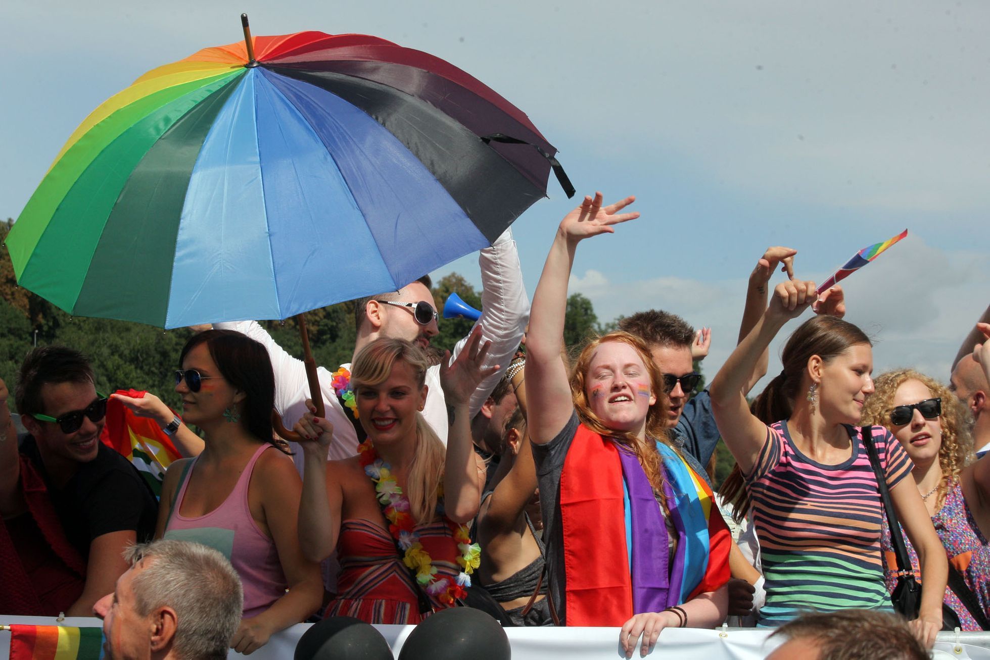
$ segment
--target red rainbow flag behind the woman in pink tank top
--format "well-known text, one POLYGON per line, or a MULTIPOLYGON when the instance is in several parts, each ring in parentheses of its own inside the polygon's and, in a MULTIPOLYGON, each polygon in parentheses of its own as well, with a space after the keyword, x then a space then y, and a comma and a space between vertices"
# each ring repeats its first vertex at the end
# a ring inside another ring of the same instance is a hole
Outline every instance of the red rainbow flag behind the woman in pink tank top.
MULTIPOLYGON (((116 394, 141 399, 146 393, 118 390, 116 394)), ((157 498, 161 497, 161 482, 165 478, 165 470, 172 461, 182 457, 171 438, 156 422, 138 417, 113 398, 107 402, 107 423, 103 426, 100 440, 138 468, 157 498)))

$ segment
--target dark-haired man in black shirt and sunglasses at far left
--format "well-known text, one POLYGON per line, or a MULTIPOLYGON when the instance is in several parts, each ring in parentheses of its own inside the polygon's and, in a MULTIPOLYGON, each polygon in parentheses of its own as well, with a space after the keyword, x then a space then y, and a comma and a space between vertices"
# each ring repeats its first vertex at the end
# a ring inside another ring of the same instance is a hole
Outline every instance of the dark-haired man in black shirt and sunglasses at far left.
POLYGON ((0 381, 0 613, 88 616, 128 569, 124 548, 150 538, 157 502, 100 441, 107 400, 81 353, 44 346, 25 358, 20 442, 7 399, 0 381))

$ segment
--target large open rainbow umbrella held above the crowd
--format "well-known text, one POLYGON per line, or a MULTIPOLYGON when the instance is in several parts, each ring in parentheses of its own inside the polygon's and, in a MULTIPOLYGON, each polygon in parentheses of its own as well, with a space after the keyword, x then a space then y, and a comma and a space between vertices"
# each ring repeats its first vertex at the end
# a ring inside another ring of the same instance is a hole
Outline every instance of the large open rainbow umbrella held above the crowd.
POLYGON ((209 47, 152 69, 62 147, 9 236, 18 283, 162 328, 285 319, 491 244, 555 149, 446 61, 365 35, 209 47))

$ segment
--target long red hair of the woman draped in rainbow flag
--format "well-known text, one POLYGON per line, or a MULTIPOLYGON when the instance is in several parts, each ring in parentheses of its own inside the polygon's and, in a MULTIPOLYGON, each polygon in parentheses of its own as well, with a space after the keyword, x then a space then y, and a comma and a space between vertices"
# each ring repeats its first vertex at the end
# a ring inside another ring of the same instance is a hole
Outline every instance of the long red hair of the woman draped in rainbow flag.
POLYGON ((574 363, 574 368, 571 371, 570 394, 574 401, 574 410, 581 424, 584 424, 599 435, 611 437, 619 444, 623 444, 633 450, 643 465, 643 471, 646 473, 649 485, 653 487, 653 491, 660 498, 660 506, 663 509, 664 516, 667 516, 669 512, 667 510, 666 497, 663 495, 662 461, 660 460, 659 452, 656 450, 654 440, 670 446, 666 424, 664 423, 667 418, 667 409, 670 407, 670 400, 667 399, 667 395, 663 391, 663 375, 653 362, 653 358, 649 354, 644 341, 630 332, 616 330, 588 342, 588 345, 578 355, 574 363), (598 419, 598 416, 592 412, 588 404, 588 396, 584 391, 585 374, 588 371, 588 366, 591 364, 591 358, 594 357, 595 351, 598 350, 599 346, 608 341, 618 341, 632 346, 639 354, 640 359, 643 360, 646 373, 649 374, 649 387, 656 397, 656 403, 650 406, 646 412, 645 439, 637 437, 636 433, 631 431, 620 431, 609 428, 598 419))

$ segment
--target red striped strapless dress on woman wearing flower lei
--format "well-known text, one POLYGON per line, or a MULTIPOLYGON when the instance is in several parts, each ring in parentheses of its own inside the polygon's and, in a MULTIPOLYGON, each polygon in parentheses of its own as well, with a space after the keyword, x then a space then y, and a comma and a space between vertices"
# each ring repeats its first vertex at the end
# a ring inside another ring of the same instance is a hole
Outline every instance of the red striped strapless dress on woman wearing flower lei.
MULTIPOLYGON (((430 553, 439 573, 456 577, 457 544, 450 528, 435 520, 416 527, 423 548, 430 553)), ((341 562, 337 598, 324 616, 353 616, 368 623, 419 623, 419 589, 412 572, 399 557, 392 535, 374 522, 347 519, 341 523, 337 541, 341 562)), ((430 599, 435 610, 446 606, 430 599)))

